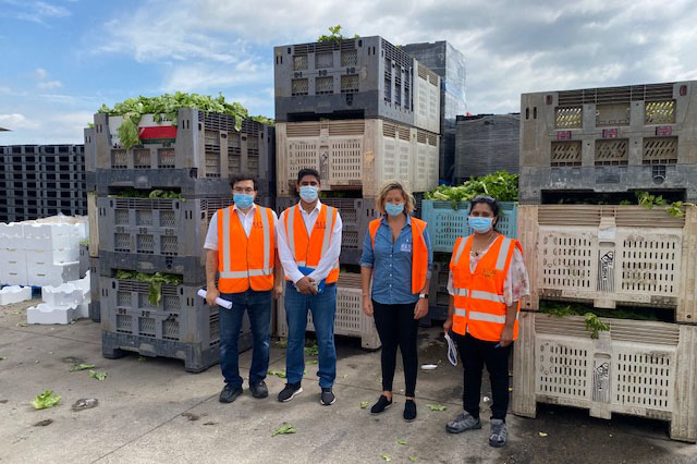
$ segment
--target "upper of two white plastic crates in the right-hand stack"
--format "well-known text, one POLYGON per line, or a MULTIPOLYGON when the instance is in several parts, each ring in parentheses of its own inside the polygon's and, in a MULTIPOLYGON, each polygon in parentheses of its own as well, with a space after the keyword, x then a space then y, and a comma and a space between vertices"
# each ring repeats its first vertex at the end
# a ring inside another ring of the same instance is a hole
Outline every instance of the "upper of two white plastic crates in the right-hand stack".
POLYGON ((640 206, 518 207, 518 240, 539 300, 675 309, 697 322, 697 209, 685 217, 640 206))

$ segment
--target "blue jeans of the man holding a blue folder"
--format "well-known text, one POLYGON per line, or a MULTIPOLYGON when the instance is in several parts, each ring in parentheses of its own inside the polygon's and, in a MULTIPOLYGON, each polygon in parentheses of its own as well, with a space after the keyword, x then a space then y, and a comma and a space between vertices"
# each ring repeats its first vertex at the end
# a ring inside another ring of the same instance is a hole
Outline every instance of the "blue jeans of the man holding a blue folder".
POLYGON ((320 387, 331 387, 337 378, 337 350, 334 347, 334 315, 337 313, 337 285, 329 284, 322 293, 303 295, 293 282, 285 285, 285 320, 288 347, 285 349, 285 376, 289 383, 297 383, 305 371, 305 331, 307 312, 313 314, 313 325, 319 350, 318 365, 320 387))

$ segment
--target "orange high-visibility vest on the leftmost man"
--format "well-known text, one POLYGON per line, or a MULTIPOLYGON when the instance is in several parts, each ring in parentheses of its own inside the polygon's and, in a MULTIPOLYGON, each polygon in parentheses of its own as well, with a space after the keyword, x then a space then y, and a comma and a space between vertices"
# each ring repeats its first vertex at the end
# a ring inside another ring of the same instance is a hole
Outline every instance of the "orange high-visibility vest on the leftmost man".
POLYGON ((241 293, 273 288, 273 212, 256 207, 249 237, 233 207, 218 210, 218 290, 241 293))

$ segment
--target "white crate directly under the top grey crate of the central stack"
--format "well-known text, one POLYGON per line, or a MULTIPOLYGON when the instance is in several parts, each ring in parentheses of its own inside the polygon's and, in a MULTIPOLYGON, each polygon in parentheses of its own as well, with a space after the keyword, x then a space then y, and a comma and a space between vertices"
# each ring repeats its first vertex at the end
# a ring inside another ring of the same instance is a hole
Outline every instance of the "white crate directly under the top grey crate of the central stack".
POLYGON ((317 169, 323 191, 362 191, 374 198, 387 180, 413 192, 438 185, 440 137, 383 120, 278 123, 279 196, 294 194, 297 172, 317 169))

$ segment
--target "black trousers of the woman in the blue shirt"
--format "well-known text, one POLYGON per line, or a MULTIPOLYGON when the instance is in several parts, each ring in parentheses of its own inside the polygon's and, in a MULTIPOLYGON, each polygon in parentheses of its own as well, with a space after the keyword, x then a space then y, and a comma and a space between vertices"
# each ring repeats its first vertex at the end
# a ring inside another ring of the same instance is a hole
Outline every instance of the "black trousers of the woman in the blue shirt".
POLYGON ((406 395, 414 396, 416 390, 416 374, 418 373, 418 354, 416 350, 416 334, 418 320, 414 319, 416 303, 403 305, 383 305, 375 300, 372 309, 375 325, 382 343, 382 390, 392 391, 394 368, 396 366, 396 349, 402 351, 404 364, 404 382, 406 395))

